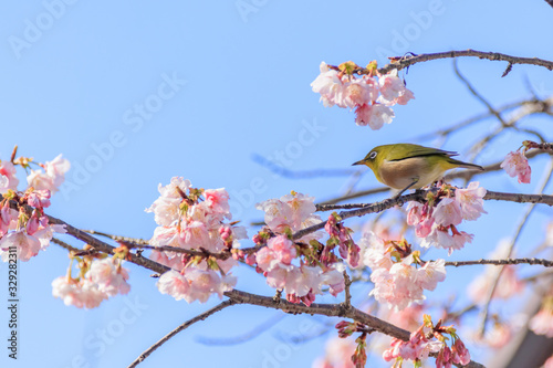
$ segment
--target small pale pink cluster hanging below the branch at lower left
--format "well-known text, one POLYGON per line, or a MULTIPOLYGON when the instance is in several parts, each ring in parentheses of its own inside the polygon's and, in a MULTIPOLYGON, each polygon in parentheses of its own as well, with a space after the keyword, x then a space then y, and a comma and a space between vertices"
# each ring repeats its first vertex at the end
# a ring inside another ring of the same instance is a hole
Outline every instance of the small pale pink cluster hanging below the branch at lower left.
POLYGON ((127 294, 128 271, 121 266, 122 261, 113 257, 92 261, 81 260, 81 277, 60 276, 52 282, 52 295, 65 305, 77 308, 95 308, 103 301, 117 294, 127 294))

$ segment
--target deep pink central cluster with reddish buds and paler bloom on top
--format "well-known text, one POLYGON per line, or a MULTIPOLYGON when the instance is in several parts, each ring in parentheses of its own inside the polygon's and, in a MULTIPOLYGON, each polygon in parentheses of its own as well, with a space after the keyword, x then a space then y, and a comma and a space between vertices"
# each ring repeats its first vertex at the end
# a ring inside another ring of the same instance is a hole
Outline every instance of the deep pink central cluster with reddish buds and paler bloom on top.
POLYGON ((316 294, 323 294, 324 286, 334 296, 345 287, 343 264, 334 254, 331 255, 328 245, 316 241, 322 238, 322 232, 310 233, 296 242, 291 240, 292 232, 321 222, 319 215, 313 214, 313 197, 292 192, 258 203, 255 207, 265 212, 267 231, 274 236, 269 236, 267 231, 255 235, 253 240, 261 249, 246 260, 248 264, 257 265, 271 287, 283 290, 288 301, 307 306, 316 294))

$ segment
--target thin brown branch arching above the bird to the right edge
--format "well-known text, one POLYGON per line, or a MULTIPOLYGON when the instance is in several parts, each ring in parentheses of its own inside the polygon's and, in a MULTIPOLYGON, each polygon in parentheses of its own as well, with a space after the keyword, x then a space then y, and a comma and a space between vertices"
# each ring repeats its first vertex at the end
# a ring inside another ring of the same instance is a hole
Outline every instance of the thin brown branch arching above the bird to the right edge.
MULTIPOLYGON (((460 51, 446 51, 446 52, 437 52, 431 54, 420 54, 420 55, 406 55, 403 57, 395 57, 390 64, 387 64, 378 70, 380 74, 386 74, 397 69, 398 71, 408 67, 410 65, 422 63, 431 60, 438 59, 449 59, 449 57, 463 57, 463 56, 476 56, 479 59, 488 59, 491 61, 505 61, 509 65, 512 64, 529 64, 529 65, 538 65, 546 67, 550 71, 553 71, 553 62, 547 60, 542 60, 538 57, 519 57, 505 55, 499 52, 483 52, 477 50, 460 50, 460 51)), ((508 67, 509 67, 508 65, 508 67)), ((363 70, 365 71, 365 70, 363 70)), ((361 71, 358 71, 361 72, 361 71)), ((366 72, 362 72, 362 74, 366 74, 366 72)))

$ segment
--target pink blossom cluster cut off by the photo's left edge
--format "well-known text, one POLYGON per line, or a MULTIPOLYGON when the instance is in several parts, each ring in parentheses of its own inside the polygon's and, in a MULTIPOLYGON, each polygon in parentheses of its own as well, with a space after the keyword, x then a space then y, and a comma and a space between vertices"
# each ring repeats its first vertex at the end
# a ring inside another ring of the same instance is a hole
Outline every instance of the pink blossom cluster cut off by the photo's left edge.
POLYGON ((12 161, 0 161, 0 257, 8 262, 10 254, 27 262, 39 251, 50 245, 54 232, 65 233, 64 227, 50 224, 44 208, 50 207, 50 198, 63 182, 70 164, 62 156, 52 161, 36 164, 44 169, 31 170, 27 177, 29 187, 18 192, 19 179, 15 165, 29 168, 32 159, 19 158, 12 161), (10 200, 33 207, 31 215, 23 208, 19 211, 10 207, 10 200))

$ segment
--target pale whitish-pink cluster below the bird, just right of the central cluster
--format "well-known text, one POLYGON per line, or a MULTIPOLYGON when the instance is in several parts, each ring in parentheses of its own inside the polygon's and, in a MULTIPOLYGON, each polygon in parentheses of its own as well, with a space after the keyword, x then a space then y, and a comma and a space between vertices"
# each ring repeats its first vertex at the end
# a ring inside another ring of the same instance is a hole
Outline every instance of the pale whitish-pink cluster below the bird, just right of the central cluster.
POLYGON ((446 280, 444 260, 425 262, 417 269, 422 262, 405 241, 385 241, 366 232, 359 245, 363 263, 371 267, 371 281, 375 284, 369 295, 396 312, 413 303, 421 304, 426 298, 424 291, 434 291, 438 282, 446 280))

